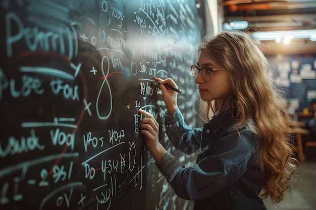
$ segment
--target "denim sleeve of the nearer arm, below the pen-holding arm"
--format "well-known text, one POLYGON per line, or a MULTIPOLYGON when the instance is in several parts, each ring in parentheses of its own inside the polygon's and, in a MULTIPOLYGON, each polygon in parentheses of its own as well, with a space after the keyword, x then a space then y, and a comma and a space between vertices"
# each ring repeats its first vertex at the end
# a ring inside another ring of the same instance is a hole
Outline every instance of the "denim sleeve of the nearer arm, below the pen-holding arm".
POLYGON ((160 170, 175 193, 187 200, 199 200, 226 189, 240 179, 254 162, 256 137, 245 129, 222 137, 208 157, 194 168, 185 168, 170 153, 162 159, 160 170))

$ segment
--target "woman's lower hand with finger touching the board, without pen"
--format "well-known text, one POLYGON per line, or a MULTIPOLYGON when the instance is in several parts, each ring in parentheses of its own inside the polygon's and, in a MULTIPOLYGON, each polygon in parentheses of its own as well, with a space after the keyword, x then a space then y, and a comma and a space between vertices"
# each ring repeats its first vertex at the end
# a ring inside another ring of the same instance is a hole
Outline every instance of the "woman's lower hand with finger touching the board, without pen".
POLYGON ((166 150, 159 142, 159 123, 150 113, 141 109, 138 111, 140 114, 146 116, 146 118, 141 120, 140 133, 145 135, 145 144, 148 150, 155 161, 160 164, 166 150))

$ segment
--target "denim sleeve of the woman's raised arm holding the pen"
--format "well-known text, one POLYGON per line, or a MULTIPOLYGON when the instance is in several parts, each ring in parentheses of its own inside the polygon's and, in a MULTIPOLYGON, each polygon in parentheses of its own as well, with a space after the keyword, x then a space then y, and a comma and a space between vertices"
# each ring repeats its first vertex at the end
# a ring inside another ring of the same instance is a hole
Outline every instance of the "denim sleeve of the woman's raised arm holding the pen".
POLYGON ((191 155, 200 146, 202 128, 189 127, 179 108, 172 115, 165 112, 166 133, 172 145, 181 152, 191 155))

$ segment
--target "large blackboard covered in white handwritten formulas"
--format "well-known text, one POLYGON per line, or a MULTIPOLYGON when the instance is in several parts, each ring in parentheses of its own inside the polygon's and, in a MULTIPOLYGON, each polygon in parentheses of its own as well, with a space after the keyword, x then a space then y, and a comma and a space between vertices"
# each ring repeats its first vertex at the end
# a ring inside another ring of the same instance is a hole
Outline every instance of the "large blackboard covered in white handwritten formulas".
MULTIPOLYGON (((138 109, 164 121, 173 78, 196 125, 195 1, 3 0, 0 209, 190 209, 154 165, 138 109)), ((168 151, 177 153, 161 124, 168 151)))

